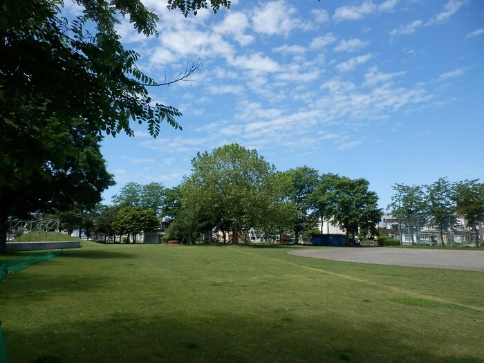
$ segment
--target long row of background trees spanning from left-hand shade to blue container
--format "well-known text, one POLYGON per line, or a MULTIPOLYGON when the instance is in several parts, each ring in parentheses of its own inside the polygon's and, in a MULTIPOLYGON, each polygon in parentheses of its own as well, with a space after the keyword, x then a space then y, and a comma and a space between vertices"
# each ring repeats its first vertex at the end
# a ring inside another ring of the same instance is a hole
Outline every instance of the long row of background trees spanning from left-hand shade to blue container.
MULTIPOLYGON (((317 233, 317 223, 331 221, 347 236, 375 234, 382 211, 378 196, 365 179, 322 174, 310 167, 277 171, 256 150, 237 144, 198 153, 192 174, 180 185, 128 183, 113 196, 113 205, 86 213, 59 214, 66 230, 82 229, 89 236, 150 232, 171 217, 168 236, 191 243, 194 236, 232 232, 234 243, 250 227, 265 236, 291 232, 317 233), (75 218, 71 218, 71 217, 75 218), (66 218, 68 217, 68 218, 66 218)), ((134 239, 133 239, 134 241, 134 239)))

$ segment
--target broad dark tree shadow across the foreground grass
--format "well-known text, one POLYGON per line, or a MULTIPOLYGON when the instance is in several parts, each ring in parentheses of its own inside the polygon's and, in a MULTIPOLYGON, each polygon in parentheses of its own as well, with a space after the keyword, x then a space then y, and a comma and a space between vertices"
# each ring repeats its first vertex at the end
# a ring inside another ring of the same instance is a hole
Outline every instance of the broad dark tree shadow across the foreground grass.
POLYGON ((482 362, 432 351, 411 332, 373 323, 356 328, 337 317, 145 313, 106 312, 35 330, 6 325, 4 333, 12 362, 482 362))

